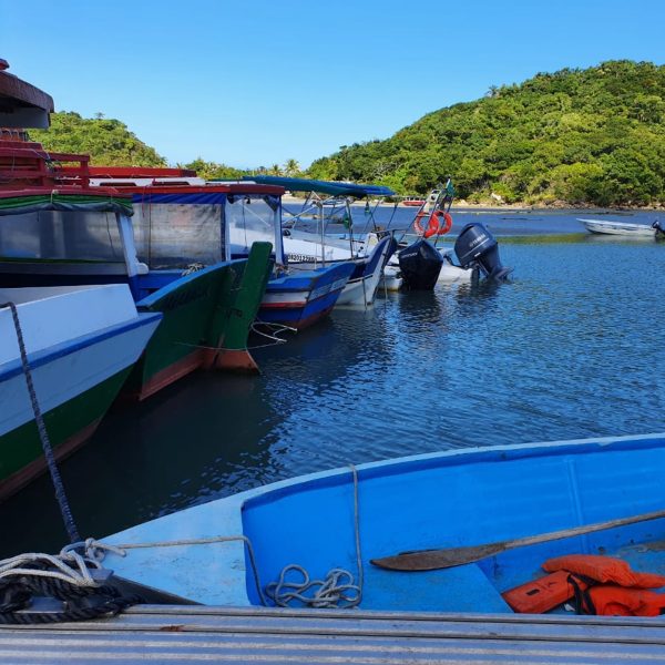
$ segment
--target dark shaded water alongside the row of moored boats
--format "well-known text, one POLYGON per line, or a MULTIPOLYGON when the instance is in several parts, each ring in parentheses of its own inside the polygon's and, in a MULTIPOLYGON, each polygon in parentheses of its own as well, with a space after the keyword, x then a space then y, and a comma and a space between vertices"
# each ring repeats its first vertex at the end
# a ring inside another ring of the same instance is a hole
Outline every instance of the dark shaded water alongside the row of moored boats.
MULTIPOLYGON (((143 403, 115 405, 91 441, 60 464, 81 534, 102 536, 294 475, 298 457, 297 468, 307 469, 326 401, 352 382, 359 365, 386 352, 382 336, 367 344, 370 329, 374 310, 340 310, 287 344, 256 349, 258 377, 200 371, 143 403)), ((2 514, 0 556, 64 543, 47 475, 9 499, 2 514)))

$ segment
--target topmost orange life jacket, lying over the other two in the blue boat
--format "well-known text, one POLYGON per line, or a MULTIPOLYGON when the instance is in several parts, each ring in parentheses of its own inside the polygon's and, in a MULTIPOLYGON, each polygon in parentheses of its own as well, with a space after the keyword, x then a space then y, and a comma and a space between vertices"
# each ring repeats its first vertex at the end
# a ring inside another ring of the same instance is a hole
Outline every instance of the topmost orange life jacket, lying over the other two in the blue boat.
POLYGON ((626 561, 612 556, 595 554, 570 554, 549 559, 543 563, 548 573, 567 571, 574 575, 583 575, 602 584, 618 584, 634 589, 657 589, 665 586, 665 576, 652 573, 637 573, 631 570, 626 561))

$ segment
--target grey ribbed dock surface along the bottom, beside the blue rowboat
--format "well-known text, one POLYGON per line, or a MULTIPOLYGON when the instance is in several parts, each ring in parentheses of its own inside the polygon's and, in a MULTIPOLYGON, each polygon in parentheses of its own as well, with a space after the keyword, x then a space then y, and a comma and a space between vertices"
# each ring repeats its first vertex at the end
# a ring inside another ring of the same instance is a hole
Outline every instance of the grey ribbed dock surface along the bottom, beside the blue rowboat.
POLYGON ((0 627, 2 663, 661 663, 665 617, 141 605, 0 627))

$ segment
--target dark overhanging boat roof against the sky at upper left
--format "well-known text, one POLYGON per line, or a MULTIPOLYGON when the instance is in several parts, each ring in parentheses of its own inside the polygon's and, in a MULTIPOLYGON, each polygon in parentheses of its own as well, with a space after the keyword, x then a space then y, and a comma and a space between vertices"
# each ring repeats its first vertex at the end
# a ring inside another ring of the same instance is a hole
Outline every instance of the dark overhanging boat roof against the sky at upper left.
POLYGON ((0 59, 0 127, 48 127, 53 98, 10 74, 8 68, 7 60, 0 59))

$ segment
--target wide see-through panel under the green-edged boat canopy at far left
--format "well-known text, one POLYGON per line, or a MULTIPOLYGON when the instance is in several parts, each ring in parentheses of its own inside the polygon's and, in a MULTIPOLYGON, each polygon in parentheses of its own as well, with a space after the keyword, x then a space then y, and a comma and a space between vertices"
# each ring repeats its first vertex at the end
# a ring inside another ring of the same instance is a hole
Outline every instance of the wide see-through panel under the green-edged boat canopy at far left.
POLYGON ((125 263, 116 214, 96 211, 39 211, 0 216, 0 257, 125 263))

